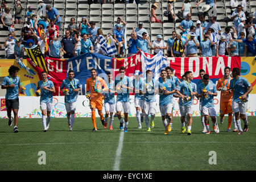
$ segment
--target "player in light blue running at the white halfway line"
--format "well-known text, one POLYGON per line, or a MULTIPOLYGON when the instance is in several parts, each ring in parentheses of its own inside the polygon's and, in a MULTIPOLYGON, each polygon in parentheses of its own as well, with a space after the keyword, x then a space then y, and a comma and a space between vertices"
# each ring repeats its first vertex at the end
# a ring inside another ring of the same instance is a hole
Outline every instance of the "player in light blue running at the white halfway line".
POLYGON ((119 76, 115 77, 115 89, 117 90, 117 118, 120 121, 120 129, 123 129, 122 109, 125 114, 124 132, 128 132, 128 114, 130 113, 130 92, 133 92, 133 82, 125 76, 125 67, 119 68, 119 76))

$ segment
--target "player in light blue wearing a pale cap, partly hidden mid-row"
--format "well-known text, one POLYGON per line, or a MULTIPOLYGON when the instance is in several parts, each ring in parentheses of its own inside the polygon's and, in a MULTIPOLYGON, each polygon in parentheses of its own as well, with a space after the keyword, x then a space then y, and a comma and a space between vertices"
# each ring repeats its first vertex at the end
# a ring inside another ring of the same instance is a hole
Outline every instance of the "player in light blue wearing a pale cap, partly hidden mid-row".
POLYGON ((138 70, 134 73, 133 87, 135 91, 135 107, 136 107, 136 118, 138 121, 138 129, 142 129, 141 122, 143 122, 144 116, 144 95, 142 94, 142 78, 140 77, 138 70))

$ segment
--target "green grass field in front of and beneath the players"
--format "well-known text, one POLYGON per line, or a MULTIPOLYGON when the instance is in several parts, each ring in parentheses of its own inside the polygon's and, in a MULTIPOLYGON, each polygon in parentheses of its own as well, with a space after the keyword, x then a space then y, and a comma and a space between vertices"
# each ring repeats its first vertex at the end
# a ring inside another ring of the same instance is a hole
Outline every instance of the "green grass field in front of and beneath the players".
MULTIPOLYGON (((200 117, 193 117, 192 135, 181 134, 180 118, 173 130, 164 135, 161 118, 147 132, 138 129, 136 118, 129 119, 129 132, 104 129, 97 118, 97 133, 92 132, 90 118, 76 118, 68 131, 66 118, 52 118, 47 133, 42 120, 19 119, 19 133, 13 133, 8 119, 0 120, 0 171, 3 170, 94 170, 114 169, 119 138, 123 133, 119 170, 255 170, 256 122, 249 117, 249 131, 238 135, 226 133, 227 117, 220 133, 201 134, 200 117), (39 151, 46 152, 46 164, 39 165, 39 151), (217 164, 209 164, 210 151, 216 152, 217 164), (15 163, 14 163, 15 161, 15 163)), ((243 122, 242 122, 243 127, 243 122)), ((232 124, 233 129, 233 124, 232 124)), ((212 127, 211 127, 212 130, 212 127)))

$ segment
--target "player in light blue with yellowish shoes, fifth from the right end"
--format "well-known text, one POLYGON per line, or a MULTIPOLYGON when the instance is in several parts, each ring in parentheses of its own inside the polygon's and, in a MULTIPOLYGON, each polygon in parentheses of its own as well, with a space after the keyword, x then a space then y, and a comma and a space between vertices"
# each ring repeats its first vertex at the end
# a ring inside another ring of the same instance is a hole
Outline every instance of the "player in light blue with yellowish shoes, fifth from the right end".
POLYGON ((185 72, 186 80, 180 82, 176 88, 177 94, 180 96, 179 106, 181 114, 181 133, 185 133, 185 117, 187 114, 188 119, 188 131, 187 134, 191 135, 191 126, 192 126, 192 105, 193 105, 193 96, 196 96, 196 84, 191 82, 193 80, 193 73, 191 71, 185 72))

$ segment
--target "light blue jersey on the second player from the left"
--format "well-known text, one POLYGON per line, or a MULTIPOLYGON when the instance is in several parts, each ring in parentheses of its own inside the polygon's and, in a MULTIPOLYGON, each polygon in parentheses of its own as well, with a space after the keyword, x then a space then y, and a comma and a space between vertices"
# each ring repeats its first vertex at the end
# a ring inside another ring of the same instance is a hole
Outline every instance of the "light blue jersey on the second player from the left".
POLYGON ((52 103, 52 92, 49 92, 48 90, 44 90, 43 86, 47 86, 48 89, 51 89, 52 87, 54 87, 53 82, 50 80, 47 80, 46 82, 43 82, 43 80, 40 80, 38 82, 38 86, 41 90, 40 102, 52 103))

